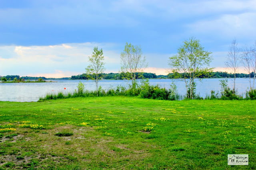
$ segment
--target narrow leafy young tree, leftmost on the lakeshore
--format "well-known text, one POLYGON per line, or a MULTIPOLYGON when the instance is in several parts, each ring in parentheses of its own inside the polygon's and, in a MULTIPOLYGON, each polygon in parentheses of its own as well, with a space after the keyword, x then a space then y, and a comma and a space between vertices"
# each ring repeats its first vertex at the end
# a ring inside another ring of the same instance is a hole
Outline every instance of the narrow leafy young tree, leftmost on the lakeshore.
POLYGON ((90 65, 85 68, 86 76, 96 83, 96 92, 98 96, 98 82, 101 80, 101 73, 104 72, 104 56, 102 49, 98 50, 98 47, 94 47, 92 55, 88 57, 90 65))

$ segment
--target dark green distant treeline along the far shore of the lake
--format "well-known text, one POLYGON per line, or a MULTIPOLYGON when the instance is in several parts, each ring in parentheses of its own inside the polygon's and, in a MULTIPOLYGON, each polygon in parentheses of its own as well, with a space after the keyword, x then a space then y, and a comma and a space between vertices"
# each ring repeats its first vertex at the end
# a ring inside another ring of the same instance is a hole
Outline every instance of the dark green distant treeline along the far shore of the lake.
MULTIPOLYGON (((178 73, 179 74, 179 73, 178 73)), ((108 73, 105 74, 103 73, 103 78, 107 79, 107 80, 123 80, 123 76, 122 73, 108 73)), ((138 73, 136 73, 137 77, 138 77, 138 73)), ((168 75, 156 75, 155 73, 148 73, 148 72, 144 72, 143 74, 144 78, 168 78, 168 79, 172 79, 174 78, 174 73, 169 73, 168 75)), ((183 76, 184 73, 179 74, 180 76, 183 76)), ((254 73, 251 73, 251 77, 254 76, 254 73)), ((88 77, 86 76, 86 74, 78 74, 77 76, 71 76, 70 77, 64 77, 64 78, 46 78, 46 77, 30 77, 30 76, 18 76, 18 75, 11 75, 11 76, 4 76, 6 77, 7 80, 14 80, 14 78, 17 79, 24 79, 24 80, 38 80, 38 78, 42 78, 43 80, 87 80, 88 77), (10 79, 9 79, 10 78, 10 79)), ((234 74, 231 73, 227 73, 227 72, 222 72, 222 71, 217 71, 217 72, 212 72, 210 74, 210 76, 206 76, 206 75, 202 75, 200 76, 200 78, 234 78, 234 74)), ((236 74, 236 78, 249 78, 249 74, 244 74, 244 73, 237 73, 236 74)))

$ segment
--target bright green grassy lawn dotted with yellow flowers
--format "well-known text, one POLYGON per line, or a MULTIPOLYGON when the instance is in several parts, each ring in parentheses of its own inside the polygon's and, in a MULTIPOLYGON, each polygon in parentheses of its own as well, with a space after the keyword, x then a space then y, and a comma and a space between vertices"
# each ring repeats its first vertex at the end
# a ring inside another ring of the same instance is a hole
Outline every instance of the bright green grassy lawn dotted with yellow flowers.
POLYGON ((256 101, 99 97, 0 102, 0 167, 256 168, 256 101), (228 166, 228 154, 249 154, 228 166))

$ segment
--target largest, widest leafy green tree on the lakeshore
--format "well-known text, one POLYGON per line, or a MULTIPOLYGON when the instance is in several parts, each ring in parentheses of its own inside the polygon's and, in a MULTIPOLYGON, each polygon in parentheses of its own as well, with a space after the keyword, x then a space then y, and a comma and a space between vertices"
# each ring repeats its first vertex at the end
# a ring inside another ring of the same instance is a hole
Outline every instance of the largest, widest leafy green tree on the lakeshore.
POLYGON ((209 76, 213 68, 207 68, 212 61, 211 52, 205 51, 198 39, 191 37, 178 48, 178 54, 169 58, 168 70, 174 78, 181 78, 186 84, 187 97, 195 97, 196 80, 209 76), (204 75, 204 76, 203 76, 204 75))

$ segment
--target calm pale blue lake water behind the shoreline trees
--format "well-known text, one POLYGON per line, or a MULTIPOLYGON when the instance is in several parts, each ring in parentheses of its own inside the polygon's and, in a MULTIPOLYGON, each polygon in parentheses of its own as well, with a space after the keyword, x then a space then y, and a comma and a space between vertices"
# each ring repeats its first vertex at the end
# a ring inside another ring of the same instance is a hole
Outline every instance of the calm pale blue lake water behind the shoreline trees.
MULTIPOLYGON (((220 90, 219 78, 204 79, 202 82, 197 81, 196 93, 205 97, 210 94, 211 90, 220 90)), ((50 81, 50 80, 49 80, 50 81)), ((95 83, 91 80, 56 80, 58 82, 46 83, 0 83, 0 101, 11 102, 36 102, 39 97, 44 96, 46 93, 51 92, 73 92, 77 89, 78 82, 84 83, 87 90, 95 90, 95 83), (66 88, 66 90, 64 90, 66 88)), ((162 87, 169 88, 173 80, 170 79, 157 79, 150 80, 150 84, 159 84, 162 87)), ((127 80, 102 80, 99 85, 103 89, 116 88, 118 85, 128 86, 130 81, 127 80)), ((175 84, 179 94, 186 94, 185 83, 176 80, 175 84)), ((228 79, 228 84, 232 86, 232 79, 228 79)), ((236 88, 239 94, 243 94, 250 86, 248 79, 237 78, 236 88)))

